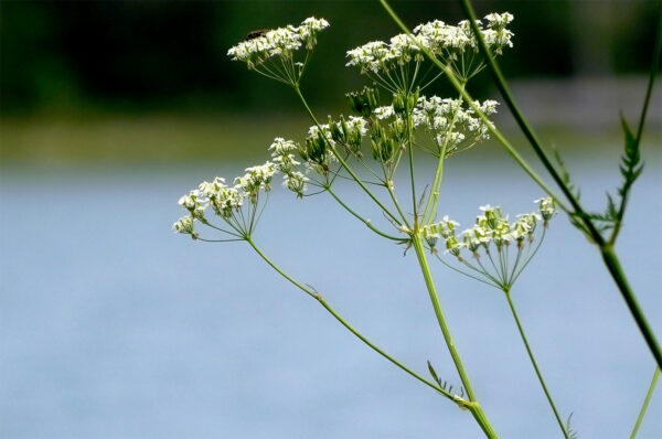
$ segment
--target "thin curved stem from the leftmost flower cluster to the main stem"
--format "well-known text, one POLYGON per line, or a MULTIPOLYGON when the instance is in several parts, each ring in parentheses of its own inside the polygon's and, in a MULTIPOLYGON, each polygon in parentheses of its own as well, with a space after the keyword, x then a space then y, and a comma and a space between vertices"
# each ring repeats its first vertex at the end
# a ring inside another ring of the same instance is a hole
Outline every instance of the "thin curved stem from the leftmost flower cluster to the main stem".
MULTIPOLYGON (((406 372, 407 374, 409 374, 410 376, 413 376, 414 378, 418 379, 419 382, 421 382, 423 384, 427 385, 428 387, 434 388, 435 390, 439 392, 441 395, 444 395, 445 397, 447 397, 448 399, 452 400, 455 404, 458 404, 460 407, 466 407, 466 405, 461 404, 461 401, 458 401, 457 398, 450 394, 449 392, 445 390, 444 388, 441 388, 439 385, 424 378, 423 376, 418 375, 416 372, 412 371, 409 367, 405 366, 403 363, 401 363, 398 360, 394 358, 393 356, 391 356, 389 354, 387 354, 385 351, 383 351, 382 349, 380 349, 377 345, 375 345, 373 342, 371 342, 367 338, 365 338, 365 335, 363 335, 361 332, 359 332, 359 330, 354 329, 354 326, 352 326, 350 323, 348 323, 323 298, 322 296, 314 291, 312 288, 310 287, 306 287, 301 283, 299 283, 297 280, 295 280, 292 277, 290 277, 288 274, 286 274, 285 271, 282 271, 276 264, 274 264, 271 261, 271 259, 269 259, 260 249, 259 247, 257 247, 255 245, 255 243, 253 242, 253 239, 250 237, 246 238, 246 242, 248 244, 250 244, 250 247, 253 247, 253 249, 273 268, 275 269, 280 276, 282 276, 284 278, 286 278, 288 281, 290 281, 295 287, 299 288, 300 290, 302 290, 303 292, 306 292, 308 296, 314 298, 318 302, 320 302, 320 304, 327 310, 329 311, 329 313, 331 315, 333 315, 333 318, 335 318, 335 320, 338 320, 343 326, 345 326, 352 334, 356 335, 363 343, 365 343, 369 347, 371 347, 373 351, 375 351, 376 353, 378 353, 380 355, 382 355, 384 358, 388 360, 391 363, 395 364, 397 367, 399 367, 401 370, 403 370, 404 372, 406 372)), ((469 407, 467 407, 469 408, 469 407)))

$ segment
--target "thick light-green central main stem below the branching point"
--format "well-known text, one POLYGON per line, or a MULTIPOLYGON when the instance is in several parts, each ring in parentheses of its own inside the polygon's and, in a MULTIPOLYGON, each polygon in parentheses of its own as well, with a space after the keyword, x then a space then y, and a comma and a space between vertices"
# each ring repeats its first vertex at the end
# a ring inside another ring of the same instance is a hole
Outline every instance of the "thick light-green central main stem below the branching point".
MULTIPOLYGON (((416 231, 418 232, 418 231, 416 231)), ((481 427, 483 432, 488 438, 496 438, 496 433, 492 429, 492 426, 488 421, 482 408, 478 404, 476 399, 476 394, 473 393, 473 388, 471 387, 471 381, 465 371, 465 366, 460 358, 460 355, 455 346, 452 341, 452 336, 450 335, 450 330, 446 324, 446 319, 444 318, 444 312, 441 311, 441 304, 439 303, 439 298, 437 297, 437 289, 435 287, 435 282, 433 280, 433 275, 430 274, 430 268, 427 263, 427 257, 425 255, 425 247, 423 244, 423 239, 419 234, 415 234, 413 236, 413 244, 416 250, 416 256, 418 257, 418 264, 420 265, 420 270, 423 271, 423 277, 425 279, 425 285, 427 287, 428 293, 430 296, 430 301, 433 302, 433 308, 435 309, 435 314, 437 315, 437 322, 439 323, 439 329, 441 329, 441 334, 444 335, 444 340, 446 341, 446 345, 448 346, 448 351, 450 356, 452 357, 452 362, 455 363, 456 370, 458 371, 458 375, 460 375, 460 381, 462 382, 462 386, 467 390, 467 396, 471 403, 474 403, 476 406, 471 409, 473 418, 481 427)))

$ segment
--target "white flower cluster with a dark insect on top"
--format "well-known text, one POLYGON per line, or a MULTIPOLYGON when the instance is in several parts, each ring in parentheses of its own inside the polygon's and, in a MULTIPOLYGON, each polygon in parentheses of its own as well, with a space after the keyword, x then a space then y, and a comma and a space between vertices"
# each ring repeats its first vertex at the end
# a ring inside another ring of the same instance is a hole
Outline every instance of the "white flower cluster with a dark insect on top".
POLYGON ((248 38, 227 51, 227 55, 234 61, 243 61, 248 68, 255 68, 273 56, 291 60, 295 51, 301 45, 312 51, 317 44, 317 35, 329 26, 324 19, 310 17, 299 25, 287 25, 264 33, 257 33, 255 38, 248 38))

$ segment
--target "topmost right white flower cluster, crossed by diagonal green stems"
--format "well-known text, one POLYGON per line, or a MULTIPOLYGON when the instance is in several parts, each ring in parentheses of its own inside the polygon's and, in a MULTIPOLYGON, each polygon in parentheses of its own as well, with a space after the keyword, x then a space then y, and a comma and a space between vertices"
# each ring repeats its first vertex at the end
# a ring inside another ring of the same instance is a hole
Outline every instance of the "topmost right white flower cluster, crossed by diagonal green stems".
MULTIPOLYGON (((501 54, 503 47, 512 47, 512 31, 506 25, 513 15, 491 13, 484 18, 487 25, 479 20, 480 32, 494 54, 501 54)), ((478 42, 469 21, 457 25, 446 24, 435 20, 414 28, 412 35, 399 34, 388 43, 372 41, 362 46, 348 51, 348 66, 356 66, 363 74, 381 74, 403 66, 412 61, 423 62, 421 50, 440 57, 445 62, 456 62, 466 52, 478 52, 478 42)))

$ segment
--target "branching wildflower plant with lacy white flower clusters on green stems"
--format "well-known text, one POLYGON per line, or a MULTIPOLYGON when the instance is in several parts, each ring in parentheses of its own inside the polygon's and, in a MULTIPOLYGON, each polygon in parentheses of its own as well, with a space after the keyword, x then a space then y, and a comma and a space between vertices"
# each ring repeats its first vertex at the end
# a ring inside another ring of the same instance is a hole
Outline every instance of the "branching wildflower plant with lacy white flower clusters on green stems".
MULTIPOLYGON (((299 140, 276 137, 266 148, 269 161, 247 168, 232 184, 216 176, 183 195, 179 203, 184 216, 173 228, 196 240, 248 243, 270 267, 316 299, 369 347, 471 414, 489 438, 498 436, 452 340, 431 276, 429 257, 503 291, 559 429, 565 438, 575 437, 569 417, 564 421, 554 404, 512 301, 514 283, 536 255, 556 210, 568 212, 568 207, 511 148, 511 156, 546 192, 544 197, 536 200, 535 212, 511 220, 500 207, 483 205, 474 224, 463 232, 460 232, 459 223, 440 213, 439 194, 446 161, 490 137, 503 143, 503 136, 490 120, 496 113, 498 103, 472 99, 466 86, 493 62, 494 56, 513 47, 514 34, 509 24, 514 18, 508 12, 490 13, 482 20, 471 17, 455 25, 435 20, 409 31, 385 1, 382 4, 405 32, 387 42, 372 41, 346 52, 346 66, 357 68, 369 84, 346 94, 353 114, 329 116, 323 122, 308 105, 300 82, 320 32, 329 26, 328 21, 309 18, 298 26, 260 31, 229 49, 232 60, 289 86, 301 100, 312 126, 299 140), (485 52, 489 56, 484 56, 485 52), (429 87, 442 78, 456 87, 457 96, 427 96, 425 93, 429 87), (435 162, 435 172, 429 175, 416 172, 417 158, 435 162), (427 179, 425 188, 416 185, 421 176, 427 179), (258 247, 255 232, 274 180, 278 178, 297 199, 327 194, 371 232, 399 248, 414 248, 460 381, 456 386, 458 392, 452 392, 452 386, 438 376, 429 362, 430 378, 426 378, 375 345, 345 321, 319 291, 289 276, 258 247), (339 179, 352 181, 356 190, 382 212, 384 220, 373 222, 350 206, 334 191, 339 179)), ((633 163, 634 168, 628 172, 640 172, 637 160, 629 160, 626 165, 633 163)), ((628 190, 629 186, 621 191, 623 199, 628 190)), ((618 210, 615 207, 615 211, 618 210)), ((576 215, 570 216, 580 221, 576 215)))

